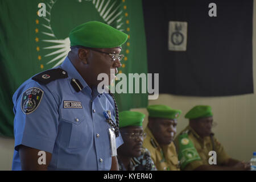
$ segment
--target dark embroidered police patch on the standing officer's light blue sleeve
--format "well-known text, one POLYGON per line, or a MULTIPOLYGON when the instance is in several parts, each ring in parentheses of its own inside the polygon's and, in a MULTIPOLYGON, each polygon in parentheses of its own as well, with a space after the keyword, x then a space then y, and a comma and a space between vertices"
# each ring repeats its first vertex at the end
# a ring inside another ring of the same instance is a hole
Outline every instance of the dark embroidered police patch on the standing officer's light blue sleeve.
POLYGON ((23 113, 30 114, 34 112, 42 101, 43 94, 43 90, 36 87, 29 88, 23 92, 20 102, 23 113))

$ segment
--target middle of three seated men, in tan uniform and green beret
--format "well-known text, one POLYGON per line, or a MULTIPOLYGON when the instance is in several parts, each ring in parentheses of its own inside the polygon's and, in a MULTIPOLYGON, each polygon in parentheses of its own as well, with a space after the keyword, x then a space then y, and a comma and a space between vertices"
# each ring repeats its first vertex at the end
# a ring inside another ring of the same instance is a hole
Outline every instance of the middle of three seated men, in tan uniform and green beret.
POLYGON ((156 168, 163 170, 180 170, 179 160, 174 145, 177 118, 181 111, 165 105, 147 107, 148 125, 143 146, 151 153, 156 168))

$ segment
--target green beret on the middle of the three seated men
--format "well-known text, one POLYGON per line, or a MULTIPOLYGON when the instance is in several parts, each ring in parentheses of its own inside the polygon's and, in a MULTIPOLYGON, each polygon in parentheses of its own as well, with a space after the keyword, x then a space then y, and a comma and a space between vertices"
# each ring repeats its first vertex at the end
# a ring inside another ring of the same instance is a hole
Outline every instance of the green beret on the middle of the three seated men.
POLYGON ((166 105, 150 105, 147 106, 148 116, 153 118, 177 119, 181 114, 181 110, 172 109, 166 105))

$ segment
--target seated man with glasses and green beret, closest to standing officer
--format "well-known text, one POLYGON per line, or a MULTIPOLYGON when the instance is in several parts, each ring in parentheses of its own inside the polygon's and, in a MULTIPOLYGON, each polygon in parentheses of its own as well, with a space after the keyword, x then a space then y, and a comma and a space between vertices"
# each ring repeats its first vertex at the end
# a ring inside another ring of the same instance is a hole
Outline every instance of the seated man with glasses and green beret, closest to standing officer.
POLYGON ((155 171, 155 164, 150 153, 142 147, 142 122, 145 115, 135 111, 122 111, 119 113, 120 132, 123 144, 117 150, 119 171, 155 171))

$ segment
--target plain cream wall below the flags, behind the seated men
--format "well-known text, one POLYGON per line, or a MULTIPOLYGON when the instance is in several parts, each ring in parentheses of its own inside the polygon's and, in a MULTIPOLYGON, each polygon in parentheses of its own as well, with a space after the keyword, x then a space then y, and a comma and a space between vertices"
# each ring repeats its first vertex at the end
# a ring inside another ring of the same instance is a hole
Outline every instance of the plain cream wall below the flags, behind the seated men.
MULTIPOLYGON (((254 1, 254 12, 256 3, 254 1)), ((256 14, 253 15, 253 77, 256 90, 256 14)), ((239 22, 238 22, 239 23, 239 22)), ((183 97, 161 94, 158 100, 150 100, 149 104, 165 104, 180 109, 177 133, 188 125, 185 113, 195 105, 210 105, 213 109, 213 129, 217 139, 224 145, 230 156, 240 160, 249 160, 252 152, 256 152, 256 95, 230 97, 183 97)), ((145 109, 142 111, 146 113, 145 109)), ((144 125, 147 123, 145 119, 144 125)), ((0 138, 0 170, 11 170, 13 160, 14 139, 0 138)))

